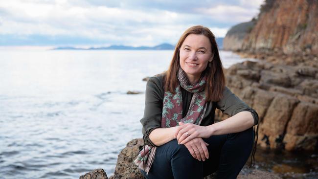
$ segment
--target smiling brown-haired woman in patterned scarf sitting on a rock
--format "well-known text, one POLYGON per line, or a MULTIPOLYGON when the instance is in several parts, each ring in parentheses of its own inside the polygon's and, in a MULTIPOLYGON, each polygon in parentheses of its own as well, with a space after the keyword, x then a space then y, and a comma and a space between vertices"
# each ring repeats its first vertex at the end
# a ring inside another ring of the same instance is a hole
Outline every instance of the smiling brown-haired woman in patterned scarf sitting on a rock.
POLYGON ((149 79, 140 122, 146 145, 135 163, 147 179, 216 171, 218 179, 236 179, 257 142, 258 115, 225 87, 215 37, 203 26, 187 29, 169 69, 149 79), (216 108, 231 117, 214 123, 216 108))

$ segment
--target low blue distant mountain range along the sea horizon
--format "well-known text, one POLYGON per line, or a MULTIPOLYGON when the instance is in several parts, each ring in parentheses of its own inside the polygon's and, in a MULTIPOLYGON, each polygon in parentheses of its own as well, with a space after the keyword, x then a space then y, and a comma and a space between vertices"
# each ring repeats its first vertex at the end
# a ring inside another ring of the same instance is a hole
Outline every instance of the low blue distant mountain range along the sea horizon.
MULTIPOLYGON (((223 47, 224 38, 216 38, 216 43, 219 49, 223 47)), ((108 47, 90 47, 90 48, 77 48, 72 46, 61 46, 53 48, 52 50, 174 50, 175 45, 171 44, 160 44, 157 46, 125 46, 125 45, 111 45, 108 47)))

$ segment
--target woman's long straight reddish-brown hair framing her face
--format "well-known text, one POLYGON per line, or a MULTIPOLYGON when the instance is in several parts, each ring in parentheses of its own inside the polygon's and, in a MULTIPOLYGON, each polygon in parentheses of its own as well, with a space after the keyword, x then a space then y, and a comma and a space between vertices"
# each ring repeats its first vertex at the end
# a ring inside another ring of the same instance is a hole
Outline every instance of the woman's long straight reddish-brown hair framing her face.
POLYGON ((201 25, 196 25, 188 28, 182 34, 179 39, 170 66, 167 71, 165 71, 163 76, 164 90, 175 93, 177 85, 179 85, 177 73, 180 68, 180 57, 179 52, 183 41, 189 34, 204 35, 209 38, 211 43, 211 51, 213 54, 213 59, 211 62, 211 67, 207 66, 204 73, 207 73, 207 84, 205 86, 205 94, 207 101, 219 101, 222 98, 223 90, 225 87, 225 77, 222 68, 222 62, 219 55, 218 46, 215 41, 215 36, 206 27, 201 25))

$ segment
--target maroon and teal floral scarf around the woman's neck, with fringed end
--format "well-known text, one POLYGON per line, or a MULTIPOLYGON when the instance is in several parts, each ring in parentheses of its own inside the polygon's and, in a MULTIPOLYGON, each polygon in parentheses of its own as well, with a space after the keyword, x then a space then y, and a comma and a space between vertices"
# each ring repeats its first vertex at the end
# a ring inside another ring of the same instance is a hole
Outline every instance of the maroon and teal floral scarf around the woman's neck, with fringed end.
MULTIPOLYGON (((206 111, 205 84, 206 75, 201 76, 198 83, 191 85, 185 72, 179 68, 178 79, 180 86, 176 88, 176 93, 164 92, 163 107, 161 115, 161 128, 178 126, 179 122, 193 123, 200 125, 206 111), (181 89, 194 93, 190 102, 190 107, 185 117, 182 118, 182 93, 181 89)), ((157 147, 145 145, 135 159, 135 164, 147 174, 155 159, 157 147)))

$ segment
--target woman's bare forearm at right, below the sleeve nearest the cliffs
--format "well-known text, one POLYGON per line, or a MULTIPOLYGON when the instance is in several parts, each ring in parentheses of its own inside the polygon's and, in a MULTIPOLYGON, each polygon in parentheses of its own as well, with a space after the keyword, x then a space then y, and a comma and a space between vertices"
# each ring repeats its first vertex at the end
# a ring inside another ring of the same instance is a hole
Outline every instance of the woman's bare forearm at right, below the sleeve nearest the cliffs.
POLYGON ((254 125, 251 112, 239 112, 221 122, 207 126, 210 135, 221 135, 245 131, 254 125))

